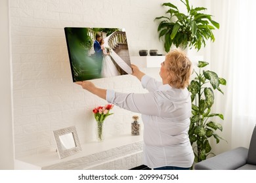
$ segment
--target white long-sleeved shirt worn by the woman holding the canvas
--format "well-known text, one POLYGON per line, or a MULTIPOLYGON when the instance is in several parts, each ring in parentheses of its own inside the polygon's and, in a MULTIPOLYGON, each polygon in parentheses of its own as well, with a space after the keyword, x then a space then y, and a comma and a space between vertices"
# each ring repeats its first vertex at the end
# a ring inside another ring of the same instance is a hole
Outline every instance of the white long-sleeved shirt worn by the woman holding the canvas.
POLYGON ((143 163, 150 168, 191 167, 194 152, 188 138, 191 100, 186 88, 175 89, 144 75, 148 93, 107 90, 106 99, 118 107, 142 114, 143 163))

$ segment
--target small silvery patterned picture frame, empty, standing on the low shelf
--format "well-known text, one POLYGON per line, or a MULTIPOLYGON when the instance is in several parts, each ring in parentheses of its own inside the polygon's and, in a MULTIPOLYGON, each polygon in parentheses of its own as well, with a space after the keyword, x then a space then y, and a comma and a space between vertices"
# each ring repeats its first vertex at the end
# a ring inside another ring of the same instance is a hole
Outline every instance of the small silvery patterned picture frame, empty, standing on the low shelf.
POLYGON ((81 152, 81 144, 75 126, 54 130, 53 135, 60 159, 81 152))

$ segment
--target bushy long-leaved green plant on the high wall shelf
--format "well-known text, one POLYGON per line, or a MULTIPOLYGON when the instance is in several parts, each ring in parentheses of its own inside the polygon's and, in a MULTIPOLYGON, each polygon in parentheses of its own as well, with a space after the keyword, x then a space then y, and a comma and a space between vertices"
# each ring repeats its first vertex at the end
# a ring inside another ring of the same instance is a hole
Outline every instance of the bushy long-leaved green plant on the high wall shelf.
POLYGON ((219 23, 211 19, 210 14, 203 14, 204 7, 190 7, 188 0, 181 2, 186 6, 187 14, 180 12, 172 3, 163 3, 162 6, 169 7, 166 14, 169 16, 160 16, 155 20, 161 20, 158 25, 159 39, 164 41, 165 52, 169 52, 172 45, 177 48, 186 48, 187 46, 200 50, 205 41, 211 39, 215 41, 212 30, 219 29, 219 23))

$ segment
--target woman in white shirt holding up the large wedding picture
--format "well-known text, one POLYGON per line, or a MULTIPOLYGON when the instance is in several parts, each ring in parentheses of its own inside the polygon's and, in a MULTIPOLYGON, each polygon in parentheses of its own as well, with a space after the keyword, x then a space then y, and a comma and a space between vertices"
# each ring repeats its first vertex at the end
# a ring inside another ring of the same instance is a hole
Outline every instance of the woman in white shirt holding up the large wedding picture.
POLYGON ((109 103, 139 112, 144 123, 143 163, 153 169, 189 169, 194 152, 188 138, 191 100, 186 89, 192 63, 186 55, 173 50, 161 63, 162 82, 142 73, 131 65, 148 93, 119 93, 97 88, 92 82, 77 82, 109 103))

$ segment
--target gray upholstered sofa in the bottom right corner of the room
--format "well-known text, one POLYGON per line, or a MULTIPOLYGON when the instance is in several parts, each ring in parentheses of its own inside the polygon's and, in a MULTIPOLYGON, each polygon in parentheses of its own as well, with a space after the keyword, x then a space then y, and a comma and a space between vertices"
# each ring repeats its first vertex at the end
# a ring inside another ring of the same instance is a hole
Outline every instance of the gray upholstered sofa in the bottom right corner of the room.
POLYGON ((256 126, 251 135, 249 149, 235 148, 212 158, 205 159, 194 166, 196 170, 256 170, 256 126))

